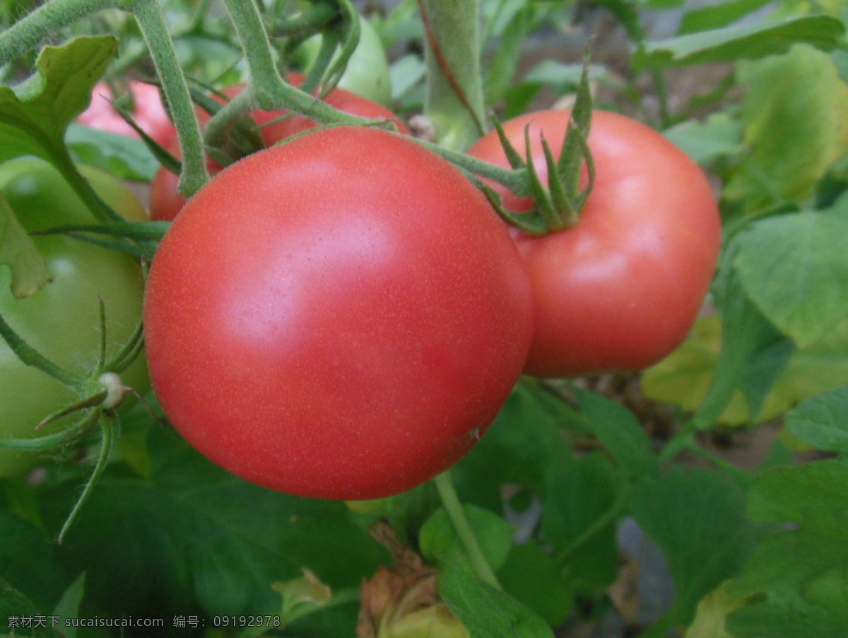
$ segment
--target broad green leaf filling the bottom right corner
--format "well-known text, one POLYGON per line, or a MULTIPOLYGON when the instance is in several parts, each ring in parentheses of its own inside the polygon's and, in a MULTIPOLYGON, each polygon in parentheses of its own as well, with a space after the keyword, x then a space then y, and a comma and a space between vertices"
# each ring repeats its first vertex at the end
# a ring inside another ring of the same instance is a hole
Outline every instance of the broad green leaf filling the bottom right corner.
POLYGON ((737 638, 843 638, 848 626, 848 465, 778 467, 756 480, 750 518, 780 523, 731 594, 753 596, 728 618, 737 638), (786 523, 793 523, 787 527, 786 523))

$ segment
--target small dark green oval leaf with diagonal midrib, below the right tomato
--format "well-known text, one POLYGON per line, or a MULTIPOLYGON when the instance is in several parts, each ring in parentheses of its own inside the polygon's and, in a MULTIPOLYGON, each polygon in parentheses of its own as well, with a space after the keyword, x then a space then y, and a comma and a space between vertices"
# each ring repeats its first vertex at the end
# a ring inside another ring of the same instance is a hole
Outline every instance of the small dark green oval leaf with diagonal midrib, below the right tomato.
POLYGON ((575 590, 597 594, 616 578, 616 522, 622 484, 601 454, 583 456, 552 476, 542 533, 575 590))

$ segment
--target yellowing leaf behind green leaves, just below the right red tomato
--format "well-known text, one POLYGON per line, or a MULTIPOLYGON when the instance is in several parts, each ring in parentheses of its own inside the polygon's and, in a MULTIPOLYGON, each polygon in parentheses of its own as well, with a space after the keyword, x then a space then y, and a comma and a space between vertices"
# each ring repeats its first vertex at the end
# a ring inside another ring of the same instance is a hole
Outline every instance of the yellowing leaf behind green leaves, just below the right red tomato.
MULTIPOLYGON (((706 394, 721 347, 721 322, 717 316, 701 317, 683 345, 665 361, 644 372, 642 391, 650 399, 694 411, 706 394)), ((763 353, 767 361, 768 353, 763 353)), ((792 353, 763 403, 757 422, 778 417, 801 400, 848 383, 848 322, 805 350, 792 353)), ((745 397, 740 390, 722 414, 720 423, 750 423, 745 397)))

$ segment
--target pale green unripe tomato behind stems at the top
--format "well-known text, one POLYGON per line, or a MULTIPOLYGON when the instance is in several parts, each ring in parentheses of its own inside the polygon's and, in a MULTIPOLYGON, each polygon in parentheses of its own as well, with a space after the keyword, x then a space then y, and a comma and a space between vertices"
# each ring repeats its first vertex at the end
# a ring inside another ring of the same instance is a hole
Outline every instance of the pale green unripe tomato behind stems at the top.
MULTIPOLYGON (((304 69, 309 69, 315 63, 320 49, 321 36, 312 36, 298 47, 295 59, 304 69)), ((388 77, 386 52, 371 22, 361 16, 360 42, 351 54, 337 86, 386 107, 392 104, 392 82, 388 77)))

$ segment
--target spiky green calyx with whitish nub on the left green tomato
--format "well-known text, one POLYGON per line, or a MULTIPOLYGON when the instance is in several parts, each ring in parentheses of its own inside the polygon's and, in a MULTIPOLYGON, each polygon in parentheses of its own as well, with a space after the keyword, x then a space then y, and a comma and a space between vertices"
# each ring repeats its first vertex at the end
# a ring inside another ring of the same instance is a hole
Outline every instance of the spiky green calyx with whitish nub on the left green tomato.
POLYGON ((38 352, 25 339, 21 338, 14 328, 0 315, 0 337, 8 344, 8 347, 18 355, 21 361, 28 366, 36 367, 60 383, 64 383, 75 392, 77 399, 64 406, 59 411, 44 417, 35 426, 35 430, 53 423, 61 417, 77 415, 70 425, 60 429, 54 434, 46 434, 34 439, 0 439, 0 448, 20 451, 37 451, 56 453, 68 447, 81 445, 96 427, 100 429, 98 460, 92 475, 86 481, 81 495, 75 502, 70 514, 65 519, 64 525, 59 532, 59 542, 62 542, 65 532, 70 528, 81 507, 91 495, 95 484, 103 473, 109 456, 114 447, 114 441, 120 431, 120 423, 115 414, 115 409, 120 406, 127 393, 134 390, 127 387, 120 378, 120 372, 131 365, 142 350, 142 325, 136 328, 131 339, 124 348, 110 361, 105 361, 106 353, 106 315, 103 299, 98 299, 100 305, 100 334, 101 344, 98 363, 95 369, 86 376, 79 376, 59 367, 53 361, 48 360, 38 352))

